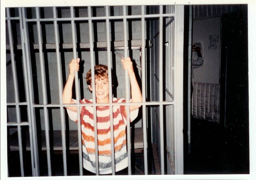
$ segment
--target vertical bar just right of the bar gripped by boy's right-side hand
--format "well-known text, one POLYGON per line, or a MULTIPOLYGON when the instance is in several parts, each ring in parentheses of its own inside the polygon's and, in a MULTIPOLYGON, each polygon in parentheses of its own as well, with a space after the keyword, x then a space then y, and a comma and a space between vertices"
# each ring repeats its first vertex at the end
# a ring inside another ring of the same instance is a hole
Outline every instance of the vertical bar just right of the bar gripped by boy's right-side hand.
MULTIPOLYGON (((141 6, 141 15, 145 15, 145 6, 141 6)), ((142 67, 142 102, 146 102, 146 65, 145 65, 145 18, 141 18, 141 67, 142 67)), ((147 161, 147 122, 146 122, 146 105, 142 105, 142 120, 143 120, 143 154, 144 154, 144 174, 148 174, 147 161)))

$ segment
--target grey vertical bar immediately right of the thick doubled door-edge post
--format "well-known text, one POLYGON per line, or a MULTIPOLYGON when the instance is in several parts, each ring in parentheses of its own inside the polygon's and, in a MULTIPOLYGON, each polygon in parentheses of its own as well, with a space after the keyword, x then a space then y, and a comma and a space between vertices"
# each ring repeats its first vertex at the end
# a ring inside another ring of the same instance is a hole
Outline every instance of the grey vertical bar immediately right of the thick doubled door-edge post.
MULTIPOLYGON (((39 18, 39 7, 36 7, 36 17, 39 18)), ((38 33, 43 104, 45 105, 47 104, 46 79, 45 79, 45 70, 44 70, 44 62, 43 62, 42 32, 41 32, 41 25, 39 21, 37 21, 37 33, 38 33)), ((47 151, 47 169, 48 169, 48 176, 52 176, 48 111, 47 111, 47 107, 43 107, 43 109, 44 109, 44 123, 45 123, 45 140, 46 140, 46 147, 47 147, 47 150, 46 150, 47 151)))

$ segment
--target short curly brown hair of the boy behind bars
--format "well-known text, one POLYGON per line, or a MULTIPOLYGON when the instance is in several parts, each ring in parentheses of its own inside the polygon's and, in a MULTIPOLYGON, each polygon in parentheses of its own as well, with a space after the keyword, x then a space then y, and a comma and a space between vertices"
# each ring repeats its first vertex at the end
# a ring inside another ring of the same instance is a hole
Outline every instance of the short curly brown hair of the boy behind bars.
MULTIPOLYGON (((95 79, 107 78, 108 79, 108 67, 106 65, 95 65, 94 66, 95 79)), ((86 83, 91 85, 92 82, 92 72, 91 69, 86 74, 86 83)))

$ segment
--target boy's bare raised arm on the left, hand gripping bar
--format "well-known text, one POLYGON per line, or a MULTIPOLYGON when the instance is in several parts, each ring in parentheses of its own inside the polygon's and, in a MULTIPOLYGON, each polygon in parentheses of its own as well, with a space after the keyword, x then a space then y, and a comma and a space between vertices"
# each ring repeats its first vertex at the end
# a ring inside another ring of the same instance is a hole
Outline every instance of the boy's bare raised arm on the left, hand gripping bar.
MULTIPOLYGON (((69 63, 69 74, 68 80, 64 86, 63 93, 62 93, 62 101, 63 104, 75 104, 76 102, 72 100, 72 86, 75 78, 75 71, 79 71, 79 61, 80 59, 72 59, 69 63)), ((76 112, 76 107, 65 107, 71 111, 76 112)))

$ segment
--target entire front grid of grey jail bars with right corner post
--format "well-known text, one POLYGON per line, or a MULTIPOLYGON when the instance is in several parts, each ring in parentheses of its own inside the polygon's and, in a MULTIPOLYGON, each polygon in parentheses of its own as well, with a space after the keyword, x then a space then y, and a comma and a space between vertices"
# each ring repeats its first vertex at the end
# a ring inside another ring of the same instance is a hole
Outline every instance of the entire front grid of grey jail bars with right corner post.
MULTIPOLYGON (((173 6, 172 6, 173 7, 173 6)), ((177 6, 174 6, 177 7, 177 6)), ((174 8, 173 7, 173 8, 174 8)), ((169 8, 169 7, 168 7, 169 8)), ((7 8, 8 9, 8 8, 7 8)), ((142 6, 142 13, 141 15, 127 15, 126 14, 126 9, 127 6, 123 6, 123 16, 109 16, 109 7, 106 6, 105 10, 106 10, 106 16, 105 17, 92 17, 91 16, 91 7, 88 7, 88 17, 74 17, 74 8, 70 7, 70 14, 71 17, 70 18, 57 18, 56 17, 56 7, 53 7, 53 18, 40 18, 39 17, 39 8, 36 7, 36 19, 27 19, 25 17, 25 12, 26 9, 23 7, 22 11, 21 8, 19 8, 19 17, 22 18, 20 19, 20 21, 22 22, 22 26, 21 26, 21 36, 23 37, 23 61, 26 60, 26 62, 24 61, 24 64, 26 64, 26 66, 24 66, 24 73, 25 75, 25 86, 26 86, 26 94, 27 94, 27 101, 26 104, 28 106, 28 123, 25 125, 29 125, 29 129, 30 129, 30 144, 33 144, 33 148, 31 148, 31 158, 32 158, 32 174, 33 176, 39 176, 39 161, 38 161, 38 147, 37 147, 37 140, 36 140, 36 127, 35 127, 35 113, 34 113, 34 109, 37 107, 42 107, 44 110, 44 117, 45 117, 45 124, 46 124, 46 144, 47 144, 47 166, 48 166, 48 175, 51 176, 52 172, 51 172, 51 155, 50 155, 50 144, 49 144, 49 122, 48 122, 48 111, 47 108, 48 107, 59 107, 61 110, 61 131, 62 131, 62 146, 63 146, 63 168, 64 168, 64 175, 67 175, 67 159, 66 159, 66 144, 65 144, 65 122, 64 122, 64 105, 62 103, 62 89, 63 89, 63 85, 61 82, 61 68, 60 68, 60 57, 59 57, 59 47, 58 47, 58 30, 57 30, 57 21, 71 21, 71 28, 72 28, 72 42, 73 42, 73 57, 76 59, 77 58, 77 52, 76 52, 76 39, 75 39, 75 24, 74 21, 79 21, 79 20, 88 20, 89 23, 89 38, 90 38, 90 57, 91 57, 91 69, 92 69, 92 88, 93 88, 93 103, 90 105, 81 105, 79 103, 79 99, 80 99, 80 93, 79 93, 79 83, 78 83, 78 73, 75 73, 75 90, 76 90, 76 97, 77 97, 77 101, 76 104, 70 104, 70 105, 65 105, 65 106, 75 106, 75 107, 82 107, 82 106, 93 106, 94 107, 94 112, 96 112, 96 107, 97 106, 110 106, 110 114, 112 114, 111 116, 111 147, 112 147, 112 174, 115 174, 115 164, 114 164, 114 141, 113 141, 113 102, 112 102, 112 89, 110 87, 109 89, 109 94, 110 94, 110 102, 107 104, 100 104, 97 105, 96 104, 96 96, 95 96, 95 76, 94 76, 94 58, 93 58, 93 32, 92 32, 92 20, 106 20, 106 27, 107 27, 107 60, 108 60, 108 68, 111 68, 111 58, 110 58, 110 27, 109 27, 109 20, 110 19, 123 19, 123 26, 124 26, 124 52, 125 52, 125 57, 128 56, 128 44, 127 44, 127 19, 128 18, 141 18, 142 21, 142 42, 143 42, 143 46, 142 46, 142 94, 143 94, 143 102, 142 103, 129 103, 129 98, 130 98, 130 93, 129 93, 129 79, 128 79, 128 72, 126 70, 125 72, 125 79, 126 79, 126 103, 120 103, 120 105, 125 105, 126 109, 127 109, 127 119, 129 119, 129 105, 135 105, 135 104, 140 104, 143 107, 143 148, 144 148, 144 174, 148 174, 148 169, 147 169, 147 137, 146 137, 146 106, 150 106, 150 105, 158 105, 160 107, 160 132, 161 132, 161 136, 160 136, 160 146, 161 146, 161 150, 160 150, 160 159, 161 159, 161 173, 164 174, 164 130, 163 130, 163 105, 167 105, 167 106, 171 106, 173 107, 173 110, 171 108, 171 111, 168 110, 167 114, 169 115, 169 117, 165 117, 165 118, 170 118, 171 117, 171 122, 173 122, 172 125, 170 125, 169 129, 171 131, 171 133, 173 133, 172 135, 168 135, 167 137, 167 141, 168 141, 168 148, 171 147, 171 157, 174 156, 175 153, 175 157, 178 155, 177 150, 181 151, 182 149, 182 153, 183 153, 183 145, 182 147, 177 148, 177 136, 178 133, 177 132, 178 129, 180 128, 178 127, 178 125, 175 125, 175 119, 177 120, 177 118, 182 118, 182 113, 177 115, 177 110, 181 110, 182 106, 180 107, 180 104, 182 104, 182 100, 180 100, 181 102, 178 104, 178 101, 174 101, 175 99, 183 99, 182 98, 182 93, 178 93, 178 89, 180 91, 180 88, 182 89, 182 83, 177 83, 177 77, 178 75, 175 74, 174 72, 174 68, 177 69, 177 67, 179 68, 179 70, 181 71, 181 69, 183 68, 183 64, 178 64, 178 66, 175 67, 175 63, 177 61, 177 57, 182 57, 177 55, 177 52, 180 53, 181 50, 180 49, 175 49, 174 44, 177 44, 177 27, 181 27, 183 28, 183 24, 181 23, 181 26, 176 25, 176 27, 173 24, 173 22, 171 22, 171 32, 170 30, 168 30, 168 33, 170 33, 168 35, 170 43, 172 43, 171 45, 171 50, 167 51, 168 53, 170 53, 168 55, 168 59, 171 59, 170 64, 168 64, 169 67, 171 67, 173 70, 171 72, 171 74, 166 74, 167 76, 171 76, 171 79, 168 79, 168 81, 170 81, 171 86, 168 88, 168 91, 170 90, 170 93, 173 93, 173 91, 176 92, 175 96, 174 93, 172 94, 172 96, 170 96, 171 98, 168 98, 167 101, 163 101, 163 94, 161 92, 163 92, 163 47, 162 47, 162 42, 163 42, 163 17, 177 17, 177 11, 175 10, 173 12, 173 10, 170 10, 170 12, 167 12, 166 14, 163 14, 163 6, 159 6, 159 14, 147 14, 145 15, 144 10, 145 10, 145 6, 142 6), (175 13, 175 15, 174 15, 175 13), (145 18, 152 18, 152 17, 157 17, 159 18, 159 102, 146 102, 146 97, 145 97, 145 50, 144 50, 144 24, 145 24, 145 18), (59 99, 60 102, 58 105, 54 105, 54 104, 48 104, 47 103, 47 99, 46 99, 46 80, 45 80, 45 69, 43 68, 43 52, 42 52, 42 33, 41 33, 41 26, 40 26, 40 22, 42 21, 53 21, 54 23, 54 34, 55 34, 55 44, 56 44, 56 59, 57 59, 57 70, 58 70, 58 83, 59 83, 59 99), (38 32, 38 44, 39 44, 39 57, 40 57, 40 67, 41 67, 41 77, 42 77, 42 89, 43 89, 43 104, 35 104, 35 102, 33 102, 33 87, 32 87, 32 82, 31 82, 31 77, 32 77, 32 70, 31 70, 31 66, 30 66, 30 49, 29 49, 29 39, 28 39, 28 22, 36 22, 37 23, 37 32, 38 32), (176 54, 176 57, 175 57, 176 54), (27 68, 27 69, 26 69, 27 68), (175 75, 176 77, 174 77, 175 75), (176 78, 176 79, 175 79, 176 78), (177 85, 178 84, 178 85, 177 85), (172 90, 173 89, 173 90, 172 90), (179 96, 176 96, 179 95, 179 96), (179 107, 177 107, 179 106, 179 107), (176 115, 175 115, 176 114, 176 115), (174 120, 173 120, 174 119, 174 120), (175 132, 176 129, 176 132, 175 132), (32 142, 33 141, 33 142, 32 142), (169 142, 171 142, 171 144, 169 144, 169 142), (176 148, 176 149, 174 149, 176 148)), ((179 10, 180 12, 183 13, 183 6, 179 6, 179 10)), ((169 11, 169 9, 168 9, 169 11)), ((180 19, 175 19, 174 22, 178 22, 179 20, 183 21, 182 19, 183 17, 181 16, 180 19)), ((7 14, 7 21, 8 21, 8 32, 9 32, 9 37, 12 34, 11 33, 11 29, 9 26, 9 21, 11 20, 11 18, 9 17, 9 14, 7 14)), ((16 19, 16 18, 13 18, 16 19)), ((169 28, 170 29, 170 28, 169 28)), ((182 32, 182 30, 180 30, 182 32)), ((183 32, 182 32, 183 35, 183 32)), ((182 36, 179 35, 178 38, 181 38, 182 36)), ((12 39, 10 39, 10 50, 11 50, 11 56, 12 56, 12 69, 14 71, 15 67, 13 67, 14 65, 14 53, 13 53, 13 42, 12 39)), ((183 37, 181 38, 183 39, 183 37)), ((181 41, 179 39, 179 41, 181 41)), ((183 40, 181 41, 183 43, 183 40)), ((180 45, 180 47, 183 47, 180 45)), ((179 54, 180 55, 180 54, 179 54)), ((167 58, 166 58, 167 59, 167 58)), ((111 72, 111 70, 109 70, 108 72, 111 72)), ((179 78, 182 75, 182 73, 179 73, 179 78)), ((109 83, 111 84, 111 74, 109 73, 109 83)), ((182 82, 182 81, 180 81, 182 82)), ((17 81, 14 81, 14 83, 17 84, 17 81)), ((17 85, 16 85, 17 86, 17 85)), ((15 103, 12 104, 7 104, 7 105, 16 105, 16 111, 18 112, 18 90, 17 88, 15 89, 15 103)), ((169 94, 170 94, 169 93, 169 94)), ((169 95, 168 94, 168 95, 169 95)), ((166 106, 166 107, 167 107, 166 106)), ((181 111, 182 112, 182 111, 181 111)), ((17 113, 18 115, 18 113, 17 113)), ((19 115, 20 117, 20 115, 19 115)), ((18 117, 17 120, 17 125, 18 125, 18 131, 19 131, 19 151, 20 151, 20 163, 21 163, 21 170, 22 170, 22 176, 24 176, 23 173, 23 156, 22 156, 22 146, 21 146, 21 134, 20 134, 20 130, 19 127, 20 125, 23 125, 22 123, 20 123, 20 119, 18 117)), ((83 175, 83 162, 82 162, 82 137, 81 137, 81 119, 80 119, 80 108, 77 108, 77 117, 78 117, 78 138, 79 138, 79 167, 80 167, 80 175, 83 175)), ((181 119, 179 119, 181 120, 181 119)), ((98 167, 98 140, 97 140, 97 117, 96 117, 96 113, 94 113, 94 122, 95 122, 95 126, 94 126, 94 132, 95 132, 95 153, 96 153, 96 175, 99 174, 99 167, 98 167)), ((11 125, 11 124, 10 124, 11 125)), ((179 126, 181 126, 182 124, 179 123, 179 126)), ((181 136, 183 137, 183 136, 181 136)), ((131 174, 131 153, 130 153, 130 122, 127 121, 127 145, 128 145, 128 174, 131 174)), ((181 144, 179 144, 180 146, 181 144)), ((169 154, 168 154, 169 155, 169 154)), ((173 171, 172 173, 183 173, 183 155, 178 155, 180 157, 182 157, 181 159, 179 159, 179 166, 177 167, 177 158, 175 159, 174 162, 174 168, 175 171, 173 171), (181 163, 182 161, 182 163, 181 163), (180 170, 177 171, 177 168, 179 168, 180 170)), ((168 165, 169 166, 169 165, 168 165)), ((172 166, 173 167, 173 166, 172 166)))

